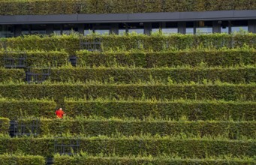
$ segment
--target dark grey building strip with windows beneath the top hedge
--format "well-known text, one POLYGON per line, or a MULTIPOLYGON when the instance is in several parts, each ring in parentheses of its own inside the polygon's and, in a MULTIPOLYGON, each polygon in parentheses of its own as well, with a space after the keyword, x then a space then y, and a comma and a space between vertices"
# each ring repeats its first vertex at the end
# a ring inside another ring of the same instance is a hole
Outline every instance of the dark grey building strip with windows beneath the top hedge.
MULTIPOLYGON (((135 1, 134 3, 141 5, 139 2, 135 1)), ((140 7, 137 8, 140 9, 140 7)), ((164 4, 161 7, 163 8, 164 4)), ((86 13, 86 11, 76 13, 74 11, 69 14, 48 12, 46 15, 34 14, 36 12, 33 13, 27 9, 29 15, 6 14, 0 16, 0 37, 14 37, 22 34, 70 34, 71 31, 77 31, 80 34, 91 32, 123 34, 133 31, 139 34, 150 34, 159 29, 163 34, 231 33, 241 30, 255 33, 256 8, 252 7, 255 10, 248 8, 250 10, 220 9, 188 12, 155 12, 158 10, 152 10, 153 12, 146 10, 145 12, 143 10, 141 13, 131 13, 128 9, 122 10, 122 13, 113 13, 112 8, 109 13, 103 13, 104 11, 101 13, 100 10, 100 13, 86 13), (127 13, 125 13, 126 11, 127 13)), ((163 11, 163 9, 159 11, 163 11)))

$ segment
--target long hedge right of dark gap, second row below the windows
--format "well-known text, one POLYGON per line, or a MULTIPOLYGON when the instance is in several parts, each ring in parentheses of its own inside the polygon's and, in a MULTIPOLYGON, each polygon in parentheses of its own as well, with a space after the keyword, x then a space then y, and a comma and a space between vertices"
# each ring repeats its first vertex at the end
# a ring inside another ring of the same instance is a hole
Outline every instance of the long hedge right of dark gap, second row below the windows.
POLYGON ((255 65, 254 50, 191 50, 180 52, 77 52, 80 66, 136 66, 142 68, 255 65))

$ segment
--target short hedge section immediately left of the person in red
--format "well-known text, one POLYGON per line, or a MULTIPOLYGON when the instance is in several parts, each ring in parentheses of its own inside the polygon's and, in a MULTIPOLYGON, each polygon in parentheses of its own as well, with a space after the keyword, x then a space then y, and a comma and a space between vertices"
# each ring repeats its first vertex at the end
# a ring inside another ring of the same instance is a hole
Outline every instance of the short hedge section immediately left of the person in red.
MULTIPOLYGON (((36 92, 36 91, 35 91, 36 92)), ((19 95, 19 92, 17 93, 19 95)), ((26 98, 26 93, 24 94, 26 98)), ((16 119, 18 117, 52 116, 56 110, 56 102, 47 100, 11 100, 0 98, 0 116, 16 119)))

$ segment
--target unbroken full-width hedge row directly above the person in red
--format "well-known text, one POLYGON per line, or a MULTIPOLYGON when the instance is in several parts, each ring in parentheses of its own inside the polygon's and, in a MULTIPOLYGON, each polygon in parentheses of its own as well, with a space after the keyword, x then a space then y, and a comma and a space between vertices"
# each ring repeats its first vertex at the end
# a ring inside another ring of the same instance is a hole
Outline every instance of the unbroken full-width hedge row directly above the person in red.
POLYGON ((0 95, 5 98, 155 98, 255 101, 256 86, 249 85, 98 85, 82 83, 0 84, 0 95))

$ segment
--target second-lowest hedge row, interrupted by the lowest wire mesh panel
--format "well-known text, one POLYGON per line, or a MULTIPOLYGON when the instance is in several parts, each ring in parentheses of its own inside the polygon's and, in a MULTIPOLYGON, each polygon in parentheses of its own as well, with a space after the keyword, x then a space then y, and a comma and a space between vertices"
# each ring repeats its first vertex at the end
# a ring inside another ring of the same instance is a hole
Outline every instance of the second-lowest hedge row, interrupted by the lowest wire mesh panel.
MULTIPOLYGON (((32 137, 0 137, 1 153, 13 153, 22 151, 26 154, 41 155, 51 157, 54 154, 54 144, 71 144, 72 137, 62 138, 32 138, 32 137)), ((234 156, 253 157, 256 154, 256 141, 251 140, 228 140, 213 138, 186 138, 186 137, 157 137, 157 136, 129 136, 110 138, 100 137, 81 137, 79 152, 85 151, 89 154, 111 154, 120 156, 151 154, 176 154, 182 157, 203 158, 207 155, 221 156, 232 154, 234 156)), ((56 152, 61 148, 56 149, 56 152)), ((68 151, 68 147, 66 150, 68 151)), ((71 149, 69 148, 69 151, 71 149)))

